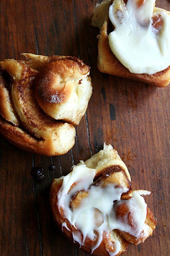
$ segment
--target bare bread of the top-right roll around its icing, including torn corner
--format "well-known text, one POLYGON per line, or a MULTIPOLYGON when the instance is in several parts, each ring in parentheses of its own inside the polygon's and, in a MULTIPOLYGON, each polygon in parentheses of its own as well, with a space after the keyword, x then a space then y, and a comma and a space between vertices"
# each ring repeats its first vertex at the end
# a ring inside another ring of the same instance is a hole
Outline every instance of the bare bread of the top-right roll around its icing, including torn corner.
MULTIPOLYGON (((97 68, 100 72, 120 76, 128 79, 137 80, 151 84, 156 87, 165 87, 170 83, 170 66, 165 70, 155 74, 134 74, 131 73, 113 54, 108 44, 108 9, 113 1, 105 0, 101 4, 96 4, 91 25, 100 29, 98 40, 98 59, 97 68)), ((170 11, 154 7, 154 12, 165 11, 170 15, 170 11)))

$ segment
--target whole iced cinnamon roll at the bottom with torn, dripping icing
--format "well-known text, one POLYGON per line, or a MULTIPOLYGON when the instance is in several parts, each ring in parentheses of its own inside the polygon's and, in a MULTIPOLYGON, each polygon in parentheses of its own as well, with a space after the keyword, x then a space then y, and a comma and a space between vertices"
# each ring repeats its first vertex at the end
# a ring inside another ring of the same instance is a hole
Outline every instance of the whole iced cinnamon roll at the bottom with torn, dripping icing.
POLYGON ((120 255, 128 244, 152 235, 156 220, 111 145, 54 179, 50 190, 53 218, 62 232, 92 255, 120 255))

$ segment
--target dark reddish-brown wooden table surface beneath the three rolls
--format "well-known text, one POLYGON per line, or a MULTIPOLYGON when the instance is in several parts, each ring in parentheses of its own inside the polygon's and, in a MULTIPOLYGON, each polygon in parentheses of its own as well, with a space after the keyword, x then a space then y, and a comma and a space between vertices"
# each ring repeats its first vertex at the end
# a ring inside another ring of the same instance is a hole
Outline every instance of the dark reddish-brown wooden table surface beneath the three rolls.
MULTIPOLYGON (((99 2, 99 1, 98 1, 99 2)), ((91 66, 93 95, 66 155, 45 157, 18 150, 0 137, 0 255, 84 256, 55 227, 49 209, 54 177, 69 173, 110 143, 129 168, 134 189, 152 194, 146 201, 158 219, 152 237, 129 246, 126 256, 168 256, 168 93, 96 68, 98 30, 90 26, 95 0, 0 0, 0 54, 79 56, 91 66), (49 171, 51 164, 56 171, 49 171), (32 166, 44 168, 36 183, 32 166)), ((170 10, 169 0, 157 6, 170 10)))

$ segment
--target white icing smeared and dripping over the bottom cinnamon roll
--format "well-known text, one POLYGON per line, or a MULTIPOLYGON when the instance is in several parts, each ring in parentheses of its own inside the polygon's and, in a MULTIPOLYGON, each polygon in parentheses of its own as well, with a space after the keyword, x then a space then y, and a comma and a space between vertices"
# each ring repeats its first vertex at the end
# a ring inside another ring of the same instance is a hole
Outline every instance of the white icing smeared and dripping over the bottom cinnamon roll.
MULTIPOLYGON (((121 200, 122 193, 127 192, 128 187, 109 182, 106 184, 102 179, 100 182, 93 182, 95 175, 96 169, 87 168, 81 162, 74 166, 71 173, 62 177, 62 186, 57 194, 59 211, 63 209, 65 220, 75 227, 75 231, 72 231, 74 241, 80 247, 84 245, 86 238, 94 241, 90 248, 91 253, 99 247, 103 234, 107 236, 111 230, 118 229, 138 237, 147 215, 147 204, 138 191, 133 192, 131 199, 121 200), (78 207, 71 207, 70 203, 80 191, 87 193, 81 198, 78 207), (122 207, 125 213, 121 216, 122 207)), ((107 174, 106 177, 108 176, 107 174)), ((62 223, 62 227, 70 230, 66 221, 62 223)), ((106 248, 110 256, 118 254, 121 249, 120 242, 117 240, 113 244, 109 243, 114 248, 106 248)))

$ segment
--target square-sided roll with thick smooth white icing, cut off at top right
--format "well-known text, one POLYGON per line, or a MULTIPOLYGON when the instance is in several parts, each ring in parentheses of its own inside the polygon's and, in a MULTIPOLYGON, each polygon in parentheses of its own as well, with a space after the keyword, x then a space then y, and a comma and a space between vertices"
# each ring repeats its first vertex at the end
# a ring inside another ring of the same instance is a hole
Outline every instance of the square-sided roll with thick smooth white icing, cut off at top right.
POLYGON ((155 0, 106 0, 96 5, 101 72, 158 87, 170 82, 170 12, 155 0))

